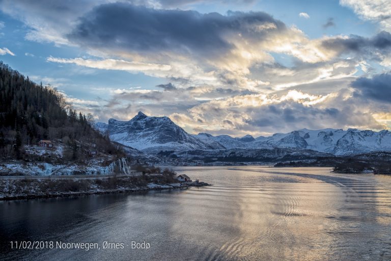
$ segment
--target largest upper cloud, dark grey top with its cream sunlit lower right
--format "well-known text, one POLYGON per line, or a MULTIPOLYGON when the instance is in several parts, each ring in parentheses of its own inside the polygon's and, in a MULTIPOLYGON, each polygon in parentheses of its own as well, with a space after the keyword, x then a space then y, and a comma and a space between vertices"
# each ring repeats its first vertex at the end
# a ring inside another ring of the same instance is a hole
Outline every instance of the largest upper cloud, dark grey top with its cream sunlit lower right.
POLYGON ((310 63, 329 59, 303 32, 263 12, 221 15, 105 4, 80 17, 67 39, 98 56, 171 66, 154 76, 251 90, 269 85, 250 77, 249 68, 273 62, 270 53, 310 63))

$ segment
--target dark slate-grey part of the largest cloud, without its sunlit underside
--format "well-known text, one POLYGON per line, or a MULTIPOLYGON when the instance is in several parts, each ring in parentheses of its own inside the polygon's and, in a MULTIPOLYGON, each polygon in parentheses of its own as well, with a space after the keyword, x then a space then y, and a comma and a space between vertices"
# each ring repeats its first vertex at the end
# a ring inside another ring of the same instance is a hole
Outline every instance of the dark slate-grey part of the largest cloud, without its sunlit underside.
POLYGON ((81 17, 68 39, 82 46, 118 51, 218 55, 232 48, 225 34, 262 38, 257 25, 285 24, 263 12, 201 14, 197 11, 152 9, 126 3, 100 5, 81 17))

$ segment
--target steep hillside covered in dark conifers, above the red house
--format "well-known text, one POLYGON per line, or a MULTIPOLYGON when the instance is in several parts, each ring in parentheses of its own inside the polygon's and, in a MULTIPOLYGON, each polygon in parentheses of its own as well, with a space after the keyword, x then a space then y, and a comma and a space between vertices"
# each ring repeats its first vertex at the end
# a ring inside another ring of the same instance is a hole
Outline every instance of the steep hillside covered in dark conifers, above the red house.
POLYGON ((0 62, 0 160, 22 159, 24 145, 42 139, 63 143, 69 150, 65 160, 77 160, 86 146, 121 154, 90 121, 90 116, 77 114, 56 89, 38 85, 0 62))

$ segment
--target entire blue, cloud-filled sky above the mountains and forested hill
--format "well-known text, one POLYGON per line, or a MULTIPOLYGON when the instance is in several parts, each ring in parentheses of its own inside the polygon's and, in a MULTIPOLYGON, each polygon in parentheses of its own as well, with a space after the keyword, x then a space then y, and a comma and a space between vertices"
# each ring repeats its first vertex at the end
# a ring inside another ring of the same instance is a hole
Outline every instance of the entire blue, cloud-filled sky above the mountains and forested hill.
POLYGON ((391 128, 391 0, 0 0, 0 60, 98 122, 391 128))

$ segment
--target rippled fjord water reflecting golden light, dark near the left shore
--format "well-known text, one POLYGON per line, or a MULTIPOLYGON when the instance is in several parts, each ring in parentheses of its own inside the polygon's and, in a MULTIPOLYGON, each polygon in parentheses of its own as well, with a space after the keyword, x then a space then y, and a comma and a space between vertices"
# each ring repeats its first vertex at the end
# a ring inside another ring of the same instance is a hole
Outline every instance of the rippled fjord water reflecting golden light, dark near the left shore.
POLYGON ((176 171, 213 186, 0 202, 1 259, 391 259, 391 176, 328 168, 176 171), (22 240, 97 242, 101 249, 10 249, 9 241, 22 240), (125 248, 102 249, 103 241, 125 248), (132 249, 131 241, 150 248, 132 249))

